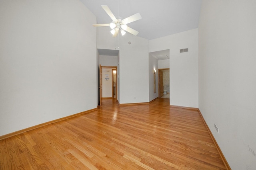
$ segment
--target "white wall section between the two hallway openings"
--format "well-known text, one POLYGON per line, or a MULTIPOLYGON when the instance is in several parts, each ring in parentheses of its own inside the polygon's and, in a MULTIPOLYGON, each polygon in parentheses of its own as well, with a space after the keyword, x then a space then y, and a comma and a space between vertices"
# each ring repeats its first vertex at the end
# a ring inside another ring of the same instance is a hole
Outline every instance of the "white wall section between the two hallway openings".
POLYGON ((119 54, 120 104, 149 102, 148 40, 126 33, 119 54))

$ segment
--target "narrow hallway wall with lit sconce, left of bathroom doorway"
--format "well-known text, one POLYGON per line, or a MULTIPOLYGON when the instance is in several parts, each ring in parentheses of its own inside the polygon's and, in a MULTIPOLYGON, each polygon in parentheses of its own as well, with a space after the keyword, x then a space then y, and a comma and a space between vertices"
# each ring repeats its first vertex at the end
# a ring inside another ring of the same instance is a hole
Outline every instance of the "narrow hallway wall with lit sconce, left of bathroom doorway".
POLYGON ((149 54, 149 102, 158 97, 158 60, 149 54), (156 70, 156 92, 154 93, 154 70, 156 70))

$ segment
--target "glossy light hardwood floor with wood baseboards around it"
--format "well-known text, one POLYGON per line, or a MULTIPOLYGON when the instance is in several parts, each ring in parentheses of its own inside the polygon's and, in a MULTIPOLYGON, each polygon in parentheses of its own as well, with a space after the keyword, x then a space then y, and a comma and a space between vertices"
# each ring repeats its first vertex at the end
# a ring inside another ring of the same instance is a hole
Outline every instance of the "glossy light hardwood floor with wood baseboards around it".
POLYGON ((0 141, 1 170, 226 169, 196 110, 118 106, 104 99, 96 111, 0 141))

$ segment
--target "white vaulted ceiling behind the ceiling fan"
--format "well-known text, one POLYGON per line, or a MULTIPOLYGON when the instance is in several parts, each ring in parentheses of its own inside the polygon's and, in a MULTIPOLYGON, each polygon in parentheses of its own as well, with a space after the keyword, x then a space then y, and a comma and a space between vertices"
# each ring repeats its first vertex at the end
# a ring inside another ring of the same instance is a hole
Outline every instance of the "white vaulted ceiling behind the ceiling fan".
POLYGON ((97 17, 97 23, 112 22, 101 5, 107 5, 114 16, 120 16, 122 19, 139 12, 142 19, 128 23, 128 26, 139 31, 137 36, 149 40, 197 28, 202 2, 202 0, 80 1, 97 17))

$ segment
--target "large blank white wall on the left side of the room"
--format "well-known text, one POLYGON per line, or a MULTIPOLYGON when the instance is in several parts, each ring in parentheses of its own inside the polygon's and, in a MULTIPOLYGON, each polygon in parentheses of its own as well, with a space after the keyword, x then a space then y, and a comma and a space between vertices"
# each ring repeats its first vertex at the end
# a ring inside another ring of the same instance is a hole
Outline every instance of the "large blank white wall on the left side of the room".
POLYGON ((79 0, 0 1, 0 136, 97 107, 93 23, 79 0))

